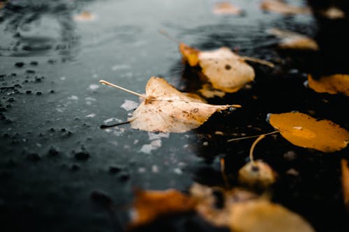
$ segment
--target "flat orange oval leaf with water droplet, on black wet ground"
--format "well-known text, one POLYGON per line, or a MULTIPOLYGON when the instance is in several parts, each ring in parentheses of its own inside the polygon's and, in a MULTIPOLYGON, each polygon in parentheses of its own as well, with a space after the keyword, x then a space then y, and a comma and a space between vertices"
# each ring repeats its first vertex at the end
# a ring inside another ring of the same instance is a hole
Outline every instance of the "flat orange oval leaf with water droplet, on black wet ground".
POLYGON ((320 120, 307 114, 290 112, 269 114, 269 123, 291 144, 332 153, 345 148, 349 132, 329 120, 320 120))

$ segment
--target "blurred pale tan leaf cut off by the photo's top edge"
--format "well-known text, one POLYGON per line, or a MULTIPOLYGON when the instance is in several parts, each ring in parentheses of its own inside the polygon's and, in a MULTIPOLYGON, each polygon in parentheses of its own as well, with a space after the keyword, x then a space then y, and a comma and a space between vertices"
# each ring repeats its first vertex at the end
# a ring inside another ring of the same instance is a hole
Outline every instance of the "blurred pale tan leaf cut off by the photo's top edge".
POLYGON ((279 0, 263 0, 260 3, 262 10, 267 10, 283 15, 309 14, 311 9, 304 6, 292 6, 284 1, 279 0))

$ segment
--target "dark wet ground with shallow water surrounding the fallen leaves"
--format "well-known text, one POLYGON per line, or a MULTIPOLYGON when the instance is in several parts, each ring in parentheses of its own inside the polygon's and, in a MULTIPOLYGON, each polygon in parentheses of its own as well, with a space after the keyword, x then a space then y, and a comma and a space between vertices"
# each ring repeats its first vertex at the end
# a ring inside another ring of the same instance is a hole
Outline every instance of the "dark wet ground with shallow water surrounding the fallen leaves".
MULTIPOLYGON (((8 2, 0 10, 4 226, 13 231, 121 231, 134 187, 186 191, 194 181, 223 185, 219 157, 226 157, 234 176, 248 160, 252 143, 226 140, 272 131, 265 122, 269 113, 304 111, 348 130, 348 98, 304 86, 307 73, 349 73, 340 55, 349 47, 348 36, 341 34, 348 22, 286 17, 263 12, 259 1, 236 2, 243 15, 214 15, 214 1, 196 0, 8 2), (91 15, 79 20, 84 11, 91 15), (323 49, 281 52, 278 39, 265 32, 271 27, 304 33, 323 49), (197 130, 151 133, 127 124, 102 130, 100 125, 126 121, 138 98, 102 86, 99 79, 138 93, 151 76, 163 77, 182 91, 198 89, 191 81, 198 77, 160 29, 198 49, 227 46, 271 61, 276 68, 251 63, 255 82, 209 100, 240 104, 242 109, 215 114, 197 130), (112 201, 112 211, 101 206, 105 201, 112 201)), ((324 154, 270 137, 258 145, 257 153, 281 173, 275 201, 303 215, 317 231, 349 229, 339 162, 348 157, 348 148, 324 154), (290 169, 299 176, 287 174, 290 169)), ((195 215, 162 223, 155 228, 218 230, 195 215)))

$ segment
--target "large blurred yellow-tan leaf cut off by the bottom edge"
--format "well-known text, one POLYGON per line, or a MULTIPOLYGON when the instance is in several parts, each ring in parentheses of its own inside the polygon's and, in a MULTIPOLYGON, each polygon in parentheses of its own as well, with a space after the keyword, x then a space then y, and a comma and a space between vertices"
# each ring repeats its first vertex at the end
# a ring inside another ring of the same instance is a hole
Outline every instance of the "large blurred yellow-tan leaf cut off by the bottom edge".
POLYGON ((239 232, 313 232, 302 217, 283 206, 265 200, 235 203, 229 227, 239 232))

